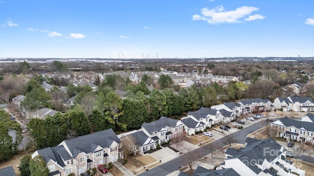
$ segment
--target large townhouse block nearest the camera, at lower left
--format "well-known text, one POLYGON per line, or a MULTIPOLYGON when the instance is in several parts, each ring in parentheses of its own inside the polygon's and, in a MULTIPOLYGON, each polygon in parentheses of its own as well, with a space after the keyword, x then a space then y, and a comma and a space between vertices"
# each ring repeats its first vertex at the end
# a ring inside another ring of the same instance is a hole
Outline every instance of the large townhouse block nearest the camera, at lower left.
POLYGON ((124 157, 121 141, 112 129, 64 140, 58 146, 31 154, 32 158, 37 155, 42 155, 46 161, 49 176, 79 175, 99 164, 124 157))

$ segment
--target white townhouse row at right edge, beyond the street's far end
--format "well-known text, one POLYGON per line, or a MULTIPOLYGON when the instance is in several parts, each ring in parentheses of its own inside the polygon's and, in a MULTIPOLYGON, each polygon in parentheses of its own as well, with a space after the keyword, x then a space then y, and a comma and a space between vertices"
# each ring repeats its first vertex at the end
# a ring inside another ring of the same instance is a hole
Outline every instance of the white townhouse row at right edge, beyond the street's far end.
POLYGON ((288 98, 277 97, 274 100, 276 109, 283 111, 314 111, 314 102, 311 97, 289 96, 288 98))

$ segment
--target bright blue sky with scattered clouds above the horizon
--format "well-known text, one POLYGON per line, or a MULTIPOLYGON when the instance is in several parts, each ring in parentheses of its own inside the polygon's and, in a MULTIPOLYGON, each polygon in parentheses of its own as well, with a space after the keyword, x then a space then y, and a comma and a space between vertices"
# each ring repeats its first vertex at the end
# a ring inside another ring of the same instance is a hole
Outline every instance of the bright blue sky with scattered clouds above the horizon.
POLYGON ((313 7, 313 0, 0 0, 0 58, 312 57, 313 7))

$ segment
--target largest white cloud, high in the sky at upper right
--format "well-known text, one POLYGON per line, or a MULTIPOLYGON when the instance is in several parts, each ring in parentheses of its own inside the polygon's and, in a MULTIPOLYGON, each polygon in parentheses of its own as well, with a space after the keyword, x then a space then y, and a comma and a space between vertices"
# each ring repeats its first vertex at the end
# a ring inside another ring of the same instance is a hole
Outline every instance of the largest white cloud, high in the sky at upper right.
MULTIPOLYGON (((222 5, 219 5, 212 9, 208 9, 207 7, 201 9, 202 15, 193 15, 192 20, 203 20, 209 22, 210 24, 239 23, 242 22, 243 18, 257 10, 259 10, 259 8, 257 7, 242 6, 236 8, 235 10, 226 11, 222 5)), ((259 20, 262 17, 263 17, 262 15, 256 14, 253 15, 252 17, 246 18, 248 19, 246 21, 250 21, 251 19, 254 18, 255 18, 254 20, 259 20)))

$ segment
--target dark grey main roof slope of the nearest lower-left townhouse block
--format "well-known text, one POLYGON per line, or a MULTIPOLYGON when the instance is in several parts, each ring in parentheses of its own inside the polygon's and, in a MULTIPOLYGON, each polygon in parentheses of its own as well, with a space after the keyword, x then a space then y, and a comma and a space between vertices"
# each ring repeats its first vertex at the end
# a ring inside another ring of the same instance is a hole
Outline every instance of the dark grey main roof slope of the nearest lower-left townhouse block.
POLYGON ((74 139, 68 139, 64 142, 67 144, 73 157, 76 158, 80 152, 84 152, 86 154, 93 153, 93 147, 91 146, 92 143, 97 144, 102 148, 109 148, 113 141, 118 144, 120 143, 120 139, 113 132, 113 130, 107 129, 104 131, 79 136, 74 139))

